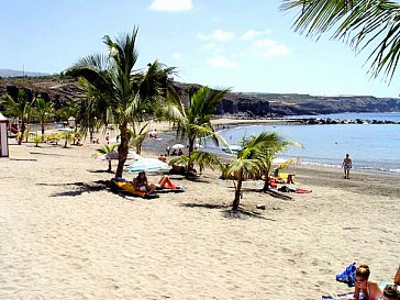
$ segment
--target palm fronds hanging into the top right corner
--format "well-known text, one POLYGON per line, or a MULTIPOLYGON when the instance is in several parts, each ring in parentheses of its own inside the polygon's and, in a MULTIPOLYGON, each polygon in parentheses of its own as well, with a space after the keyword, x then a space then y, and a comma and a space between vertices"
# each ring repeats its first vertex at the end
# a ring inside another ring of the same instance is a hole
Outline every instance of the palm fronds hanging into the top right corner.
POLYGON ((321 36, 334 29, 333 38, 343 40, 356 51, 373 47, 368 60, 377 77, 392 79, 400 58, 400 3, 389 0, 282 0, 281 10, 300 9, 295 31, 321 36))

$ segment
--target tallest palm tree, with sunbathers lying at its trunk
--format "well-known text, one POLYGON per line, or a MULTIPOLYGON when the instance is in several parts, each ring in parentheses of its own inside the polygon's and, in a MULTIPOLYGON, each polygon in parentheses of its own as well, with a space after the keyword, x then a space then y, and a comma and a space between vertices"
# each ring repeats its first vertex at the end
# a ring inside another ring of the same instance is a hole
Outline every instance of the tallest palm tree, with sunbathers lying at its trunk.
MULTIPOLYGON (((97 121, 101 124, 116 124, 120 131, 119 164, 115 177, 122 177, 129 153, 131 134, 129 125, 146 119, 156 101, 166 96, 168 76, 174 68, 165 67, 155 60, 146 71, 136 71, 135 48, 137 29, 115 40, 105 35, 104 44, 109 55, 91 55, 80 59, 68 73, 80 76, 84 98, 90 103, 97 121)), ((95 118, 93 116, 93 118, 95 118)), ((88 129, 88 124, 81 124, 88 129)))

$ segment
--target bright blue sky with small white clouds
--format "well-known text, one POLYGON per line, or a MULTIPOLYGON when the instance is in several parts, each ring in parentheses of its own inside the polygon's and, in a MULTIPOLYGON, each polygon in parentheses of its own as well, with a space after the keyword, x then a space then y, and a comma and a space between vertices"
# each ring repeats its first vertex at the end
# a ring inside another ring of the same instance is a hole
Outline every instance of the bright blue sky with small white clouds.
POLYGON ((176 67, 176 81, 238 92, 400 97, 367 74, 369 53, 292 30, 280 0, 4 0, 0 68, 56 74, 91 54, 102 37, 138 27, 137 69, 155 59, 176 67))

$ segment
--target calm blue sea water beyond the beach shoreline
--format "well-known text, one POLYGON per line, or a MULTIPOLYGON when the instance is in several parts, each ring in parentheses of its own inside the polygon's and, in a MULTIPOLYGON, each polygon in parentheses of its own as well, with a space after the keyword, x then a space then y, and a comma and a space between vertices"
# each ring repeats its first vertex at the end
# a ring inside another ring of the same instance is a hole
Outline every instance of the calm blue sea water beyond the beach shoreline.
MULTIPOLYGON (((296 118, 331 118, 336 120, 387 120, 400 122, 400 112, 297 115, 296 118)), ((263 131, 277 132, 302 144, 289 147, 281 158, 299 157, 302 164, 340 168, 346 153, 354 169, 400 176, 400 124, 263 124, 230 127, 219 133, 230 145, 263 131)))

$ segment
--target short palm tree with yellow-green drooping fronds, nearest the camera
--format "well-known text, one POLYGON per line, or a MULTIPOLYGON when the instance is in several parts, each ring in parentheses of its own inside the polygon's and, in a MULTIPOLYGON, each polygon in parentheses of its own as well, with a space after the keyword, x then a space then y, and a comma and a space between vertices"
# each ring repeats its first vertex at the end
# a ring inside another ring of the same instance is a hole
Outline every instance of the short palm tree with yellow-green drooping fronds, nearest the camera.
POLYGON ((262 132, 243 143, 242 149, 237 153, 237 158, 233 159, 224 170, 225 176, 234 174, 235 197, 232 210, 238 209, 243 181, 260 173, 268 175, 275 155, 285 151, 289 145, 297 145, 297 143, 286 141, 274 132, 262 132))

